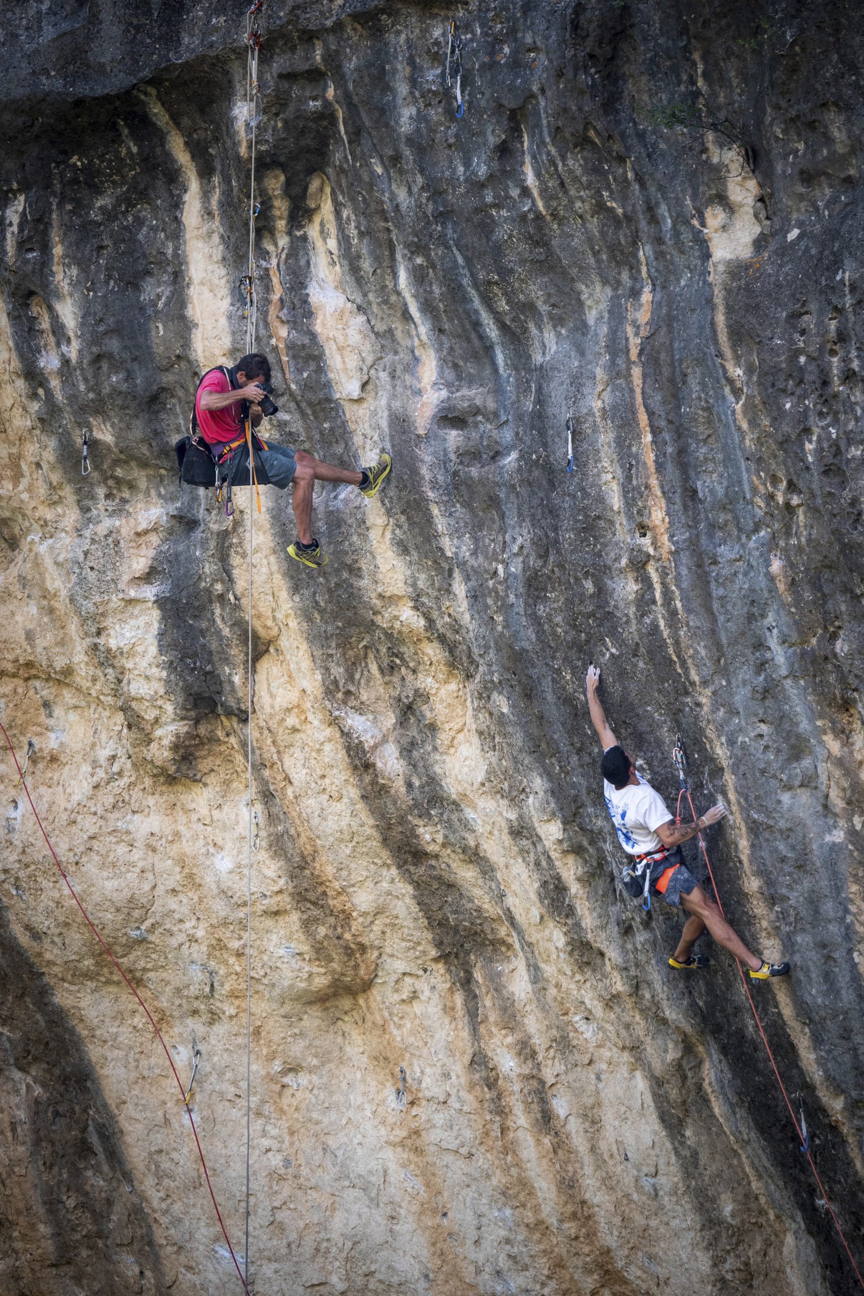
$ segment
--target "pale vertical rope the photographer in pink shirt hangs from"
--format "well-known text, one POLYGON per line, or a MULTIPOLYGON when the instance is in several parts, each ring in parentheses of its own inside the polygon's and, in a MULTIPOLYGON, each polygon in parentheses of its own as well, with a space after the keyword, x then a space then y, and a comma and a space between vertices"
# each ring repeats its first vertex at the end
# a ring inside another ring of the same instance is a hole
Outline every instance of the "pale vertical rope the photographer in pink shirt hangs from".
MULTIPOLYGON (((255 126, 258 118, 258 52, 260 29, 258 16, 263 0, 255 0, 246 14, 246 122, 251 123, 250 180, 249 180, 249 266, 246 272, 246 353, 255 347, 255 126)), ((255 509, 253 507, 253 445, 251 426, 246 421, 249 442, 249 643, 246 658, 246 780, 249 791, 249 851, 246 861, 246 1218, 244 1244, 244 1280, 249 1288, 249 1188, 251 1153, 251 1045, 253 1045, 253 835, 258 837, 253 820, 253 553, 255 548, 255 509)), ((258 491, 256 491, 258 494, 258 491)), ((259 502, 260 507, 260 502, 259 502)), ((256 816, 255 816, 256 818, 256 816)), ((255 849, 256 845, 255 845, 255 849)))

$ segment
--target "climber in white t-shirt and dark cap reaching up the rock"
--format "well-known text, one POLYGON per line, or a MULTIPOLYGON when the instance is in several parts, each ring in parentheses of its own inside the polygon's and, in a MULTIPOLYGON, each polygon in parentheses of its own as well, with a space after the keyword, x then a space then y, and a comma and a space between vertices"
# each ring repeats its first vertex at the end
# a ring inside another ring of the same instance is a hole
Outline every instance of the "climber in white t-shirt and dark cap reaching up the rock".
POLYGON ((723 945, 736 959, 750 969, 754 981, 785 976, 788 963, 768 963, 751 954, 741 937, 729 927, 719 907, 699 886, 684 863, 680 846, 723 819, 725 806, 711 806, 693 824, 675 824, 663 798, 646 783, 609 727, 606 713, 597 697, 600 671, 588 667, 585 688, 591 721, 602 743, 601 770, 606 806, 615 826, 618 840, 633 855, 637 864, 650 870, 650 889, 659 893, 667 905, 680 905, 689 914, 677 949, 668 960, 676 969, 698 969, 707 964, 703 954, 693 954, 693 945, 707 928, 718 945, 723 945))

